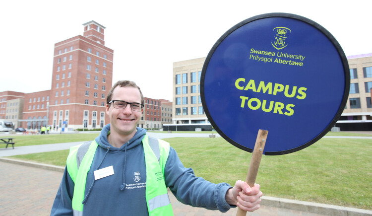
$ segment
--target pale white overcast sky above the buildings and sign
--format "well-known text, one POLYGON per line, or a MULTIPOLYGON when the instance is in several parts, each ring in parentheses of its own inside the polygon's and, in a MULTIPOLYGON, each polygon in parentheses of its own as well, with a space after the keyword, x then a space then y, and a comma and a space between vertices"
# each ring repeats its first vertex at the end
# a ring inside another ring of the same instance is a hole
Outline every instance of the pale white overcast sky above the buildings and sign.
POLYGON ((372 53, 371 0, 14 0, 0 12, 0 92, 51 89, 55 43, 105 26, 113 83, 133 80, 145 97, 173 95, 173 63, 206 57, 235 24, 285 12, 327 29, 346 56, 372 53))

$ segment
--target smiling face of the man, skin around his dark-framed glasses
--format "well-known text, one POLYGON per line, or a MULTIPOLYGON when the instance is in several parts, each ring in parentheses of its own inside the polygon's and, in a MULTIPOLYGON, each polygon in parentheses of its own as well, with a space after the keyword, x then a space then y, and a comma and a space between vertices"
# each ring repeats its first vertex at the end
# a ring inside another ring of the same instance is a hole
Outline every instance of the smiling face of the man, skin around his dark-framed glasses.
MULTIPOLYGON (((111 100, 141 103, 141 94, 137 88, 117 86, 113 91, 111 100)), ((106 113, 110 116, 111 133, 134 136, 142 115, 142 109, 140 112, 133 111, 129 104, 126 105, 125 109, 116 109, 111 103, 110 106, 106 105, 106 113)))

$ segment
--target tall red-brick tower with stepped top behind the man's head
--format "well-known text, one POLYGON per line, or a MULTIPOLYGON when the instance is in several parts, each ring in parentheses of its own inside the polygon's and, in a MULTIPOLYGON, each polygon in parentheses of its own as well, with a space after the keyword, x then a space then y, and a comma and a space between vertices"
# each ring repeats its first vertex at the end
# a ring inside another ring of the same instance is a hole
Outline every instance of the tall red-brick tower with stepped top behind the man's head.
POLYGON ((106 96, 112 86, 114 51, 105 47, 105 27, 84 23, 83 36, 55 44, 48 125, 72 131, 109 123, 106 96))

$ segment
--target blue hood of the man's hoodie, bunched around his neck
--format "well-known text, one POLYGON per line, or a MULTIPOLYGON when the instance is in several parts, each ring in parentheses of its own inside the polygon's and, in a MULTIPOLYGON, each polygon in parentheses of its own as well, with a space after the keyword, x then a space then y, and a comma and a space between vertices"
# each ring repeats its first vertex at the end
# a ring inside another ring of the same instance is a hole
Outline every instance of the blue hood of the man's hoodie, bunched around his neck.
POLYGON ((108 149, 110 147, 110 150, 112 151, 124 151, 125 148, 131 149, 139 144, 141 144, 141 141, 143 137, 146 135, 146 130, 143 128, 137 127, 137 132, 135 135, 130 139, 126 144, 123 144, 120 148, 112 146, 109 141, 107 140, 107 136, 110 134, 110 124, 106 125, 102 131, 100 136, 98 136, 95 140, 99 146, 101 146, 104 149, 108 149), (125 146, 126 145, 126 146, 125 146))

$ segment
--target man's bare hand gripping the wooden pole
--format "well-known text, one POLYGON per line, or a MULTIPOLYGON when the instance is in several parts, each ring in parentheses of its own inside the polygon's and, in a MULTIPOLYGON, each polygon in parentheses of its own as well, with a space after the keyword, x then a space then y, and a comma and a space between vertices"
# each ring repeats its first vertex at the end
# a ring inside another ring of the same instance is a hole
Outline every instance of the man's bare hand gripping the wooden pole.
POLYGON ((253 212, 259 208, 262 192, 259 184, 250 188, 247 182, 238 180, 234 187, 226 193, 225 199, 229 205, 236 205, 244 211, 253 212))

